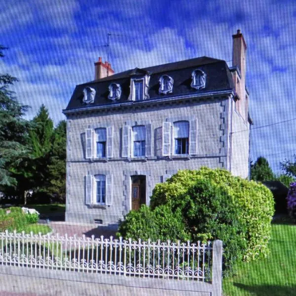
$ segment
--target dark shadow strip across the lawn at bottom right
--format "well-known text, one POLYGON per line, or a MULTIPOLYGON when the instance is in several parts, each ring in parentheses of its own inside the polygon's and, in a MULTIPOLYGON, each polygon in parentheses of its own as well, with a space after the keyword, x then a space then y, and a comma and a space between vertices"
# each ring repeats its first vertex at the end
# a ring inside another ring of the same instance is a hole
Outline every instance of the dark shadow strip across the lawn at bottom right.
POLYGON ((294 286, 274 286, 274 285, 244 285, 233 284, 235 287, 243 289, 256 296, 295 296, 296 285, 294 286))

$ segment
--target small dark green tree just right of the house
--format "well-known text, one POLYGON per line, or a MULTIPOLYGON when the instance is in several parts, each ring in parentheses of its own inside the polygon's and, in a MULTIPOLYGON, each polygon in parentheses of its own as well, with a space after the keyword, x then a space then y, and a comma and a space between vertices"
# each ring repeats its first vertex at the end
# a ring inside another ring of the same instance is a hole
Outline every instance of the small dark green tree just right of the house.
POLYGON ((251 165, 251 180, 260 182, 275 180, 275 176, 266 158, 260 156, 256 162, 251 165))

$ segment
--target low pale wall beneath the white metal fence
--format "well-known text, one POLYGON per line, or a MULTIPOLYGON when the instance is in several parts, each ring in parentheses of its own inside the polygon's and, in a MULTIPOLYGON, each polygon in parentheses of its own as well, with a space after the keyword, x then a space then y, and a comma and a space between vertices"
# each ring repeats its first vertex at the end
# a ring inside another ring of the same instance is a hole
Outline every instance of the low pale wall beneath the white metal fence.
POLYGON ((196 281, 143 279, 17 266, 1 265, 0 278, 0 292, 34 293, 43 296, 218 295, 213 293, 211 284, 196 281))

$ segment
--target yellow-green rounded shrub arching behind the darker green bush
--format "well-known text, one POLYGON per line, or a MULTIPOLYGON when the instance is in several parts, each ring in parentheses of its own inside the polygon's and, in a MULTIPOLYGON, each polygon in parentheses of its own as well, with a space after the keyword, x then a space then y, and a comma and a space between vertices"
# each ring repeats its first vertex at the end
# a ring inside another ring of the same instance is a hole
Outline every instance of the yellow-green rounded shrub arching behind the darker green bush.
MULTIPOLYGON (((159 205, 174 204, 174 200, 182 199, 184 195, 188 195, 188 192, 191 192, 192 188, 196 188, 195 184, 201 180, 211 181, 212 185, 217 185, 227 193, 229 198, 224 200, 224 206, 228 210, 234 211, 235 217, 239 213, 235 221, 231 223, 237 223, 240 225, 240 229, 243 229, 239 234, 239 239, 246 246, 242 250, 242 258, 251 260, 266 257, 274 201, 271 191, 262 184, 234 177, 223 169, 212 170, 202 167, 196 171, 179 171, 167 182, 155 186, 150 199, 151 209, 153 210, 159 205)), ((200 208, 196 210, 200 211, 200 208)), ((226 215, 227 211, 224 211, 223 215, 226 215)), ((199 212, 197 214, 200 215, 199 212)), ((221 217, 221 219, 223 218, 221 217)), ((211 229, 210 233, 213 231, 214 229, 211 229)), ((217 238, 222 239, 221 237, 217 238)), ((224 246, 227 248, 225 240, 224 246)))

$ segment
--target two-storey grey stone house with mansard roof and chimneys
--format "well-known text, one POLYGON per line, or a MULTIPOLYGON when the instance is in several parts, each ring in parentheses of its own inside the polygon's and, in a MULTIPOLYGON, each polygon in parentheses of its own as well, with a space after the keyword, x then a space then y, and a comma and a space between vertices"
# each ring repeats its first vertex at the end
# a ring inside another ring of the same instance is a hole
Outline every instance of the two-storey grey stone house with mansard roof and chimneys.
POLYGON ((116 223, 181 169, 248 177, 247 46, 239 30, 232 39, 231 68, 199 57, 114 74, 99 58, 63 111, 67 222, 116 223))

